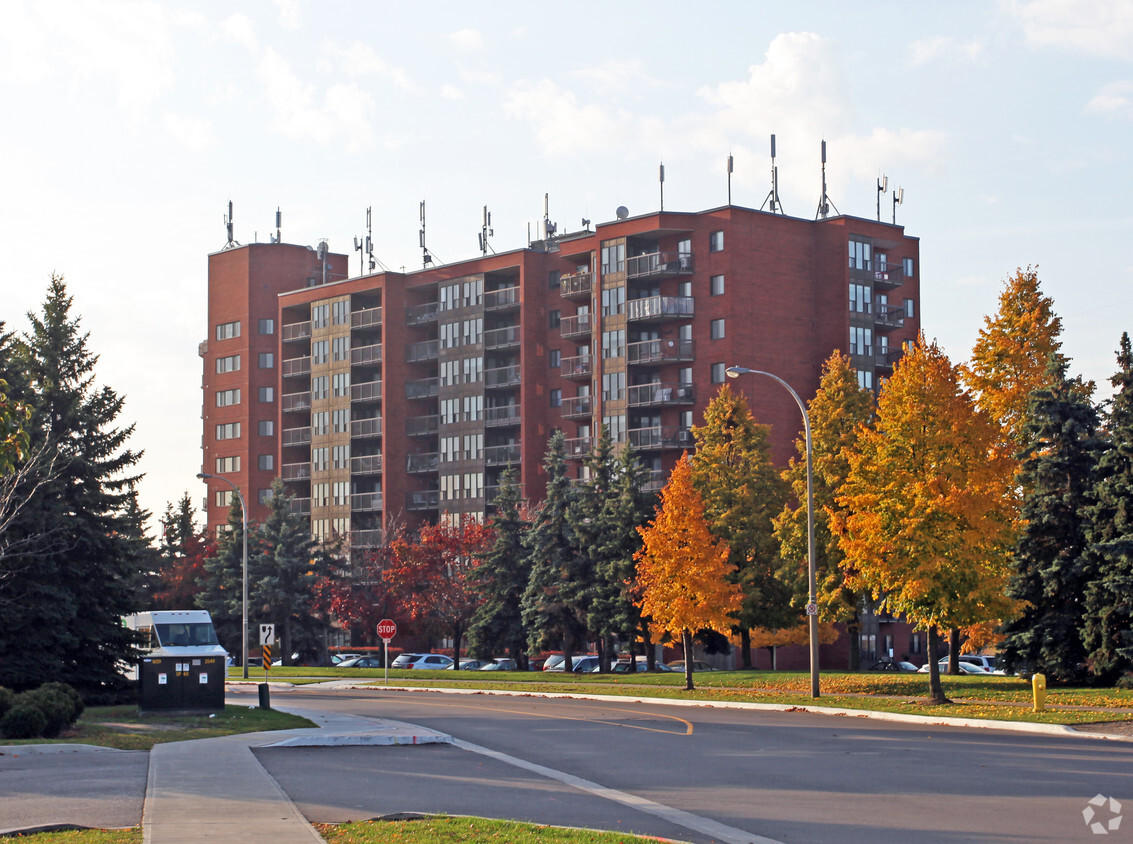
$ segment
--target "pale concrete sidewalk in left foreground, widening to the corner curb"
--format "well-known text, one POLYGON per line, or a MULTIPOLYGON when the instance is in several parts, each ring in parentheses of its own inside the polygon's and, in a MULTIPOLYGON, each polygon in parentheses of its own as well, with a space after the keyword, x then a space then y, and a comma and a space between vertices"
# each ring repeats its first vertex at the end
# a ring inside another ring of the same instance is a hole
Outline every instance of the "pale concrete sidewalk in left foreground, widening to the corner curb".
POLYGON ((271 842, 312 844, 322 837, 252 752, 256 747, 427 744, 452 736, 401 722, 303 715, 317 728, 247 733, 157 744, 150 752, 142 827, 146 844, 271 842))

